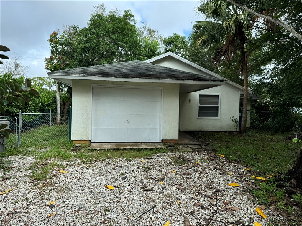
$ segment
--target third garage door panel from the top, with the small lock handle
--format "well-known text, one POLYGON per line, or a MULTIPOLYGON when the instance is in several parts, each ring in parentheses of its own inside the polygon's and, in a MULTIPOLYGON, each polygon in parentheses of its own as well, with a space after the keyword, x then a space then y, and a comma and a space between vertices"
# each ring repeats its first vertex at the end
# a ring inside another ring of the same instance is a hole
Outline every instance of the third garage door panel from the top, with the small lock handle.
POLYGON ((159 128, 160 115, 98 115, 93 124, 99 128, 159 128), (130 119, 131 118, 131 119, 130 119), (135 119, 133 119, 135 118, 135 119), (127 123, 128 121, 128 123, 127 123))

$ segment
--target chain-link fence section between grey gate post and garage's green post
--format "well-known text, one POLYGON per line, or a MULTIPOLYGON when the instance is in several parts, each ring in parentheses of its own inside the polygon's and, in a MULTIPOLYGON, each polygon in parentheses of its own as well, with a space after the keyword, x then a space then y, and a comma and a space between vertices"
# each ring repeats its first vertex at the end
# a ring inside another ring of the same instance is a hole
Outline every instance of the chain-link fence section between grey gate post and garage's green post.
POLYGON ((21 113, 18 146, 56 146, 69 140, 69 114, 21 113))

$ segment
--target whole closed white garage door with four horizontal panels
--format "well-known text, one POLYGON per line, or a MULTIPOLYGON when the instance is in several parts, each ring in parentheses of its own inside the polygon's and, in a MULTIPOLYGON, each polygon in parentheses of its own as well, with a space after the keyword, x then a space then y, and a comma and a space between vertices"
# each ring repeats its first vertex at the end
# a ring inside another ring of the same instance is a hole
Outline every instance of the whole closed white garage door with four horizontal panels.
POLYGON ((161 141, 162 89, 92 89, 92 142, 161 141))

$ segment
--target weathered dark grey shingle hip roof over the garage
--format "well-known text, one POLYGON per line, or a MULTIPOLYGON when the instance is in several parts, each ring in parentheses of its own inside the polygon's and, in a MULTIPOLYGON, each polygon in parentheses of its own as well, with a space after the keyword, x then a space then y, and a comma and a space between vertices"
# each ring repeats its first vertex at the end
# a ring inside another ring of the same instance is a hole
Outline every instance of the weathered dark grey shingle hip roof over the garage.
POLYGON ((223 81, 214 76, 205 76, 143 61, 127 61, 48 72, 48 75, 94 76, 115 78, 223 81))

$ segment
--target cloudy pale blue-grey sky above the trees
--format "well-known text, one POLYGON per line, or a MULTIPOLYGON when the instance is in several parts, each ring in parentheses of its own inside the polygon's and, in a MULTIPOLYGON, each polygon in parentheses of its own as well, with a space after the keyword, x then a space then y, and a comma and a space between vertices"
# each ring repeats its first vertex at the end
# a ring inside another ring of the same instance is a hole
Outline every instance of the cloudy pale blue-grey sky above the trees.
MULTIPOLYGON (((86 22, 98 3, 107 10, 130 9, 137 26, 146 21, 164 37, 173 33, 188 36, 196 20, 200 20, 195 7, 198 1, 0 1, 0 42, 23 65, 29 65, 29 78, 47 76, 44 58, 49 57, 47 39, 63 25, 86 27, 86 22)), ((2 60, 3 62, 5 60, 2 60)))

